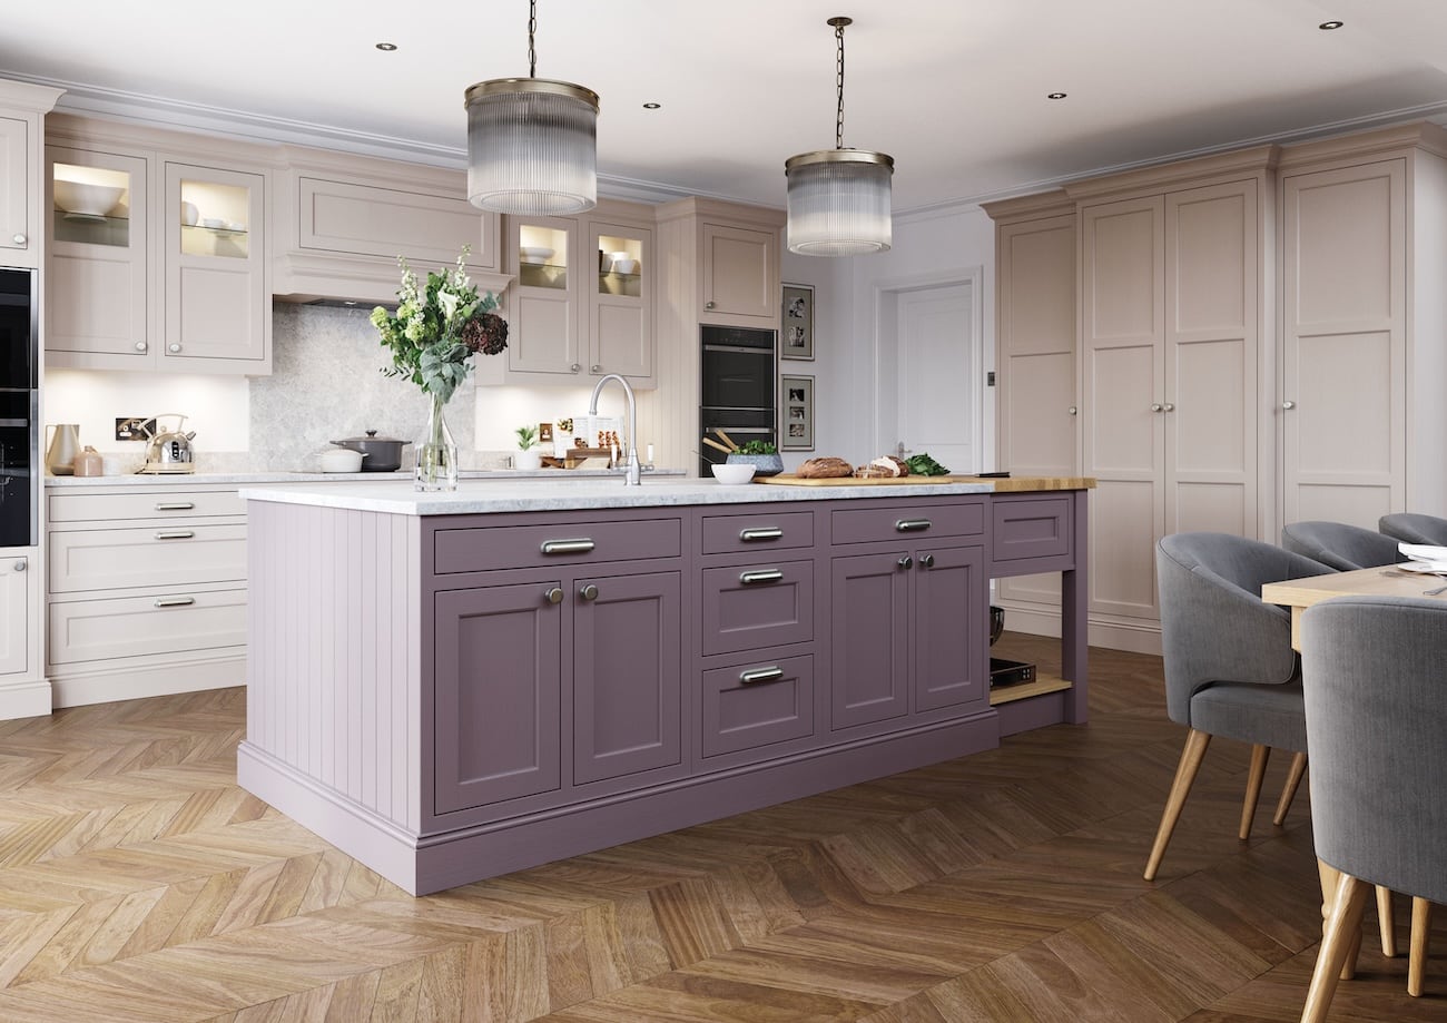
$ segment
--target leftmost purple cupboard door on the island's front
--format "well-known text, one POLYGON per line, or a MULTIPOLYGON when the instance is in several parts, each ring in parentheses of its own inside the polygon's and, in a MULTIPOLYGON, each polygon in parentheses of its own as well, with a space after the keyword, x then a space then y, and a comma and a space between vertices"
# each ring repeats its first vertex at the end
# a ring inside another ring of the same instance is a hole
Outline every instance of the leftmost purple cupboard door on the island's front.
POLYGON ((532 796, 561 778, 557 583, 436 596, 436 813, 532 796))

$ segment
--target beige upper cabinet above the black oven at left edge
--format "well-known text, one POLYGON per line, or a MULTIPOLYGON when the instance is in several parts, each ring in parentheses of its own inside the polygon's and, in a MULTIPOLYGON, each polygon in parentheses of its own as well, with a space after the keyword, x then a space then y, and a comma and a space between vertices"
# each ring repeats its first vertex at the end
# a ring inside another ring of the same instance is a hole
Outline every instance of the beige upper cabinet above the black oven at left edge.
POLYGON ((61 90, 0 81, 0 263, 41 265, 41 122, 61 90))

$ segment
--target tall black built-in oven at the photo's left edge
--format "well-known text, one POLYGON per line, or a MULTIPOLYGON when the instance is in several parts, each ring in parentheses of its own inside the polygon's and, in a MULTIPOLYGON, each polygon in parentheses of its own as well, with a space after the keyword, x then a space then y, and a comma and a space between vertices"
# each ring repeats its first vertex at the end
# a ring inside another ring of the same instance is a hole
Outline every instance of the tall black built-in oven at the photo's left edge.
POLYGON ((36 273, 0 268, 0 547, 39 543, 36 273))

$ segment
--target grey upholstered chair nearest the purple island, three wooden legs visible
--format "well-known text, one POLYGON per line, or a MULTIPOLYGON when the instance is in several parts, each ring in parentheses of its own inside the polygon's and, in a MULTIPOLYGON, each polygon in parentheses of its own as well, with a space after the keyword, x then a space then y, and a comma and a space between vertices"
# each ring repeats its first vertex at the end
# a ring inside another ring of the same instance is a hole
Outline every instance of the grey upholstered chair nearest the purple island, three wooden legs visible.
POLYGON ((1301 554, 1226 532, 1176 532, 1156 544, 1166 713, 1188 726, 1145 877, 1155 880, 1191 783, 1214 735, 1252 744, 1240 838, 1250 835, 1272 747, 1297 754, 1275 823, 1305 773, 1307 722, 1291 615, 1262 600, 1263 583, 1330 569, 1301 554))

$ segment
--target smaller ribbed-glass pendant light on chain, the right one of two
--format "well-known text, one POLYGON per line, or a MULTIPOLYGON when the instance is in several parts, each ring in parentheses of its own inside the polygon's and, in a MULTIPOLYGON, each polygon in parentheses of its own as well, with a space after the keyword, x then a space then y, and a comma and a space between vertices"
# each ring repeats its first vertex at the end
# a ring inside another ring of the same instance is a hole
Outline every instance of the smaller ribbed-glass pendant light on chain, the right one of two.
POLYGON ((839 91, 833 149, 816 149, 784 161, 789 179, 789 250, 806 256, 860 256, 884 252, 893 240, 890 177, 894 158, 844 148, 844 26, 831 17, 839 43, 835 84, 839 91))

